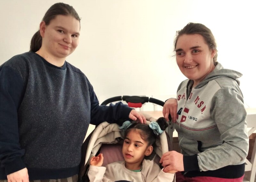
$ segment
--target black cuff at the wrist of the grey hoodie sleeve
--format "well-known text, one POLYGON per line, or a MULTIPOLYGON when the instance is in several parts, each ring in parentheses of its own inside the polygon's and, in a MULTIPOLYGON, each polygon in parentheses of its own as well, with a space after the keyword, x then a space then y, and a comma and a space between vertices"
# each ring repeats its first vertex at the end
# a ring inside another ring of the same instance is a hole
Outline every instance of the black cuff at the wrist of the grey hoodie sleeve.
POLYGON ((197 160, 197 154, 195 155, 183 155, 183 165, 184 165, 184 171, 200 171, 198 160, 197 160))

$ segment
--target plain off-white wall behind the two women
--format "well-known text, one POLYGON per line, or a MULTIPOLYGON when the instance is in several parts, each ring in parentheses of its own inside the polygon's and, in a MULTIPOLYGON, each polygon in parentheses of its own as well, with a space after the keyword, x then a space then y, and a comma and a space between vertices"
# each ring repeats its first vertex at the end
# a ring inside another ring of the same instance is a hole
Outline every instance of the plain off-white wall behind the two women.
MULTIPOLYGON (((0 1, 0 64, 29 50, 32 35, 57 0, 0 1)), ((218 61, 242 72, 245 103, 256 107, 252 82, 256 60, 253 1, 63 0, 81 20, 80 45, 67 61, 80 68, 101 98, 117 95, 175 94, 180 73, 173 38, 188 22, 209 27, 218 61)), ((161 98, 162 99, 162 98, 161 98)))

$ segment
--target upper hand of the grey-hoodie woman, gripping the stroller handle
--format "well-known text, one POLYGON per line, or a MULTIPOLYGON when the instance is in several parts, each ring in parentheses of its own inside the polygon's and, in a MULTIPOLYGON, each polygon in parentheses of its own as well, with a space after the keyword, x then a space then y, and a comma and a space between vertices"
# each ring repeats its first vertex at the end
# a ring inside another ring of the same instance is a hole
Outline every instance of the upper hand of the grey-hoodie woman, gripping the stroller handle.
POLYGON ((171 98, 164 103, 163 116, 169 121, 169 114, 171 114, 172 122, 175 123, 177 119, 177 99, 171 98))

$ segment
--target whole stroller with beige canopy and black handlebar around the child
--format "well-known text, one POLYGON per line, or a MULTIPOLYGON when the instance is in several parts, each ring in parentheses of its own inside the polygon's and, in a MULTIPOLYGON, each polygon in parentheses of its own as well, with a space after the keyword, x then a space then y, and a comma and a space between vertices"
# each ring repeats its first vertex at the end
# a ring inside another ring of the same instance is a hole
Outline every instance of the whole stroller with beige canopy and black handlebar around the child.
MULTIPOLYGON (((133 108, 140 108, 145 102, 155 103, 160 106, 164 106, 164 102, 155 98, 149 98, 145 96, 116 96, 109 98, 101 103, 101 105, 107 105, 111 102, 125 101, 128 106, 133 108)), ((149 115, 145 115, 147 123, 156 121, 157 118, 152 118, 149 115)), ((102 153, 104 156, 103 165, 109 163, 124 160, 122 155, 122 144, 124 141, 123 132, 118 128, 119 125, 108 122, 103 122, 98 125, 92 133, 86 138, 82 145, 82 157, 80 162, 80 172, 78 176, 79 182, 89 182, 87 172, 89 170, 90 158, 102 153)), ((159 164, 162 154, 172 150, 172 133, 173 123, 168 122, 168 127, 165 132, 159 135, 159 139, 156 140, 156 147, 151 155, 147 159, 154 160, 159 164)), ((160 166, 160 165, 159 165, 160 166)), ((160 166, 161 167, 161 166, 160 166)))

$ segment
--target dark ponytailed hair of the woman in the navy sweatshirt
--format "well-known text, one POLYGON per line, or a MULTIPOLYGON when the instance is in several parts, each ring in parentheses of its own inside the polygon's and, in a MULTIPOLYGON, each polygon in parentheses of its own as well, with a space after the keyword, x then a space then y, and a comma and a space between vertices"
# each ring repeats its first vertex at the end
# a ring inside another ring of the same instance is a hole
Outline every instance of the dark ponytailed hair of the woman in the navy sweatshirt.
MULTIPOLYGON (((72 6, 64 3, 55 3, 46 11, 42 21, 45 22, 45 25, 49 25, 51 20, 54 19, 57 15, 73 16, 79 21, 79 23, 81 20, 76 10, 72 6)), ((41 46, 42 37, 40 35, 40 31, 38 30, 31 39, 29 51, 36 52, 41 48, 41 46)))

